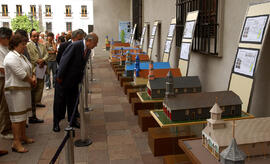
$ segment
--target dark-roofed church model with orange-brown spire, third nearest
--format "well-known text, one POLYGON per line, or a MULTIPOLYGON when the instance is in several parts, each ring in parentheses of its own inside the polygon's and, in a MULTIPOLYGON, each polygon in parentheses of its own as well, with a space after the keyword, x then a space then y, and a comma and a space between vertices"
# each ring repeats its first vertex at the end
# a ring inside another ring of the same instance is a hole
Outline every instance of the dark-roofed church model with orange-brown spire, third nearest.
POLYGON ((201 92, 201 82, 198 76, 177 77, 172 71, 168 72, 167 77, 156 76, 150 64, 147 93, 151 98, 161 99, 165 97, 166 81, 173 79, 173 89, 175 94, 201 92))

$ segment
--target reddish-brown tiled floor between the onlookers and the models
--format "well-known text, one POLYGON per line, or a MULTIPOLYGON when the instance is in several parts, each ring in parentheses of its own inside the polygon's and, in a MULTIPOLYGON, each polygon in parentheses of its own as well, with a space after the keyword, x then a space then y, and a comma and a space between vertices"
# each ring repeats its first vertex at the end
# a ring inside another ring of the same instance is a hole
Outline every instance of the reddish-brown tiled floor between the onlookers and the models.
MULTIPOLYGON (((162 158, 153 157, 147 143, 147 133, 138 127, 137 116, 113 73, 108 56, 103 52, 94 57, 94 81, 91 84, 91 107, 86 114, 86 131, 93 144, 75 148, 76 164, 161 164, 162 158)), ((44 124, 30 125, 27 134, 36 140, 25 145, 30 151, 18 154, 10 151, 11 141, 0 139, 0 148, 8 149, 7 156, 0 157, 0 164, 48 164, 63 139, 66 121, 61 122, 61 132, 52 132, 53 90, 44 91, 46 108, 38 109, 44 124)), ((75 140, 80 138, 76 129, 75 140)), ((57 163, 64 164, 65 150, 57 163)))

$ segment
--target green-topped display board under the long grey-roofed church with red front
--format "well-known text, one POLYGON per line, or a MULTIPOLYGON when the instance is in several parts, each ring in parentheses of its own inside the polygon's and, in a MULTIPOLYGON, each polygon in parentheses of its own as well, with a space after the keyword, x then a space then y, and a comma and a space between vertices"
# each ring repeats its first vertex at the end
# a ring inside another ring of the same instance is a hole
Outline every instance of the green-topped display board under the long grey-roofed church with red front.
MULTIPOLYGON (((196 120, 196 121, 178 121, 174 122, 171 121, 163 112, 163 110, 151 110, 151 115, 157 121, 160 127, 172 127, 172 126, 185 126, 185 125, 194 125, 194 124, 206 124, 206 120, 196 120)), ((253 115, 243 112, 241 117, 230 117, 230 118, 223 118, 226 120, 241 120, 241 119, 251 119, 254 118, 253 115)))

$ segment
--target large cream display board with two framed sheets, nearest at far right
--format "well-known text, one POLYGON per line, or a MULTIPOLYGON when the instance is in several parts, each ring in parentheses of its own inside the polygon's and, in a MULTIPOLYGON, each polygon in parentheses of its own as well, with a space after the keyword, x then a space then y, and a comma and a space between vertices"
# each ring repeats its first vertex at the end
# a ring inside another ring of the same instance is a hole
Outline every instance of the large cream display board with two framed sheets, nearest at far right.
POLYGON ((263 48, 269 35, 269 14, 270 2, 249 6, 240 34, 228 90, 239 95, 245 112, 250 111, 260 56, 268 55, 263 48))

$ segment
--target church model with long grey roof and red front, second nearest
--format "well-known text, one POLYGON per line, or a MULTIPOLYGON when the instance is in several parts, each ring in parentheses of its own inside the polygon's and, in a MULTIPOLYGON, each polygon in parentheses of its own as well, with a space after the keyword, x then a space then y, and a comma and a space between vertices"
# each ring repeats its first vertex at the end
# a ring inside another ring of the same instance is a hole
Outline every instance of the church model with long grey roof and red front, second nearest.
POLYGON ((166 82, 163 110, 172 121, 195 121, 210 117, 210 109, 218 98, 223 117, 239 117, 242 101, 232 91, 175 94, 173 78, 166 82))

